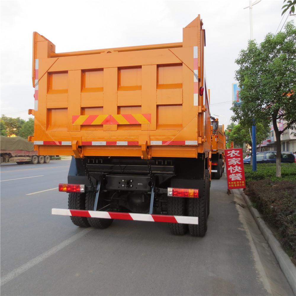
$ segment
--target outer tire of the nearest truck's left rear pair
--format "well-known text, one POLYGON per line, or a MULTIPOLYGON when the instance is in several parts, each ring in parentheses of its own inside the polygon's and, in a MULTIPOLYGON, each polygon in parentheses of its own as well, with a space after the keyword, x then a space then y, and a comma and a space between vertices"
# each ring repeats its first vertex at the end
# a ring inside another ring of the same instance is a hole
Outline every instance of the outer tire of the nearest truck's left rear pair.
MULTIPOLYGON (((72 210, 85 210, 85 194, 70 192, 68 197, 68 209, 72 210)), ((89 227, 86 217, 70 216, 74 225, 79 227, 89 227)))

